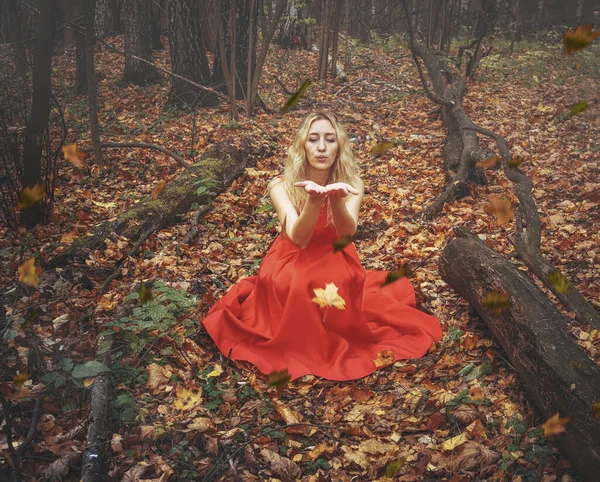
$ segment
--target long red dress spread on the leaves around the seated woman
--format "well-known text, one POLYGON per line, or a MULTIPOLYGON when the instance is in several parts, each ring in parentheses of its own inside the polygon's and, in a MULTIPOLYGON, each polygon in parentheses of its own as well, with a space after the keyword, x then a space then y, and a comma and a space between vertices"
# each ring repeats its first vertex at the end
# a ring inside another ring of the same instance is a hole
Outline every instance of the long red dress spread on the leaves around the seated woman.
POLYGON ((329 380, 364 377, 382 351, 423 356, 442 336, 439 321, 415 308, 406 278, 381 287, 385 271, 365 271, 353 244, 334 252, 324 207, 305 249, 277 237, 257 276, 232 286, 202 324, 219 350, 263 373, 287 368, 329 380), (345 309, 319 307, 314 289, 334 283, 345 309))

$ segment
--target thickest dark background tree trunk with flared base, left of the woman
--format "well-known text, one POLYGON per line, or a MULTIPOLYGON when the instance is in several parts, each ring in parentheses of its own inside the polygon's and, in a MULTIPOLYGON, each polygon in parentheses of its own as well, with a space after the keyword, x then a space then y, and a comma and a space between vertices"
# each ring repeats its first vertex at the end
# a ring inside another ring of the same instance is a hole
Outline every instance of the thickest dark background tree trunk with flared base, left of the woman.
MULTIPOLYGON (((209 85, 210 66, 201 36, 201 11, 197 0, 171 0, 169 2, 169 45, 171 67, 174 74, 209 85)), ((190 84, 172 78, 169 105, 195 107, 216 106, 214 94, 194 89, 190 84)))

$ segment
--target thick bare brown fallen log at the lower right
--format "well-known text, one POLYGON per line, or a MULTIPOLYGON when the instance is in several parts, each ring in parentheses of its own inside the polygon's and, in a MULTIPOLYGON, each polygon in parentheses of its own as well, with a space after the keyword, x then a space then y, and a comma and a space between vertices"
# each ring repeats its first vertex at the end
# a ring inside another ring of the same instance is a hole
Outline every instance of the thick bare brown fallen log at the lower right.
POLYGON ((600 367, 568 334, 569 320, 521 271, 467 230, 444 248, 438 267, 443 279, 477 310, 517 370, 542 419, 569 417, 555 435, 560 450, 589 481, 600 473, 600 367), (510 305, 493 312, 485 295, 498 288, 510 305))

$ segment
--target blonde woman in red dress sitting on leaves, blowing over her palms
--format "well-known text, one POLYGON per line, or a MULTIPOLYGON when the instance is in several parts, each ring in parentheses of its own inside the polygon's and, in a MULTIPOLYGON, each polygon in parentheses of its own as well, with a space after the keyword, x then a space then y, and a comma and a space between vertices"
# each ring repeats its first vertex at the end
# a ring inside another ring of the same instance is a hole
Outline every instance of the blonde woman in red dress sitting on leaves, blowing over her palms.
POLYGON ((342 125, 329 112, 310 114, 269 185, 281 235, 258 275, 203 320, 223 354, 292 379, 352 380, 372 373, 382 352, 420 357, 441 338, 406 278, 383 285, 386 272, 365 271, 354 245, 339 242, 356 231, 363 192, 342 125))

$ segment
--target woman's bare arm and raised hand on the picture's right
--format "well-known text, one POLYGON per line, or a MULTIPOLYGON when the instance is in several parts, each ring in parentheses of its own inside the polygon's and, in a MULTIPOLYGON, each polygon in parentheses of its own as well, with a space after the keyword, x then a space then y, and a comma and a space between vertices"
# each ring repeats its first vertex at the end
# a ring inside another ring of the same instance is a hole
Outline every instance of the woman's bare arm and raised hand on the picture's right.
POLYGON ((365 186, 359 179, 355 188, 345 183, 329 184, 327 187, 333 224, 338 236, 354 236, 358 227, 358 212, 365 186), (349 194, 353 194, 350 196, 349 194))

